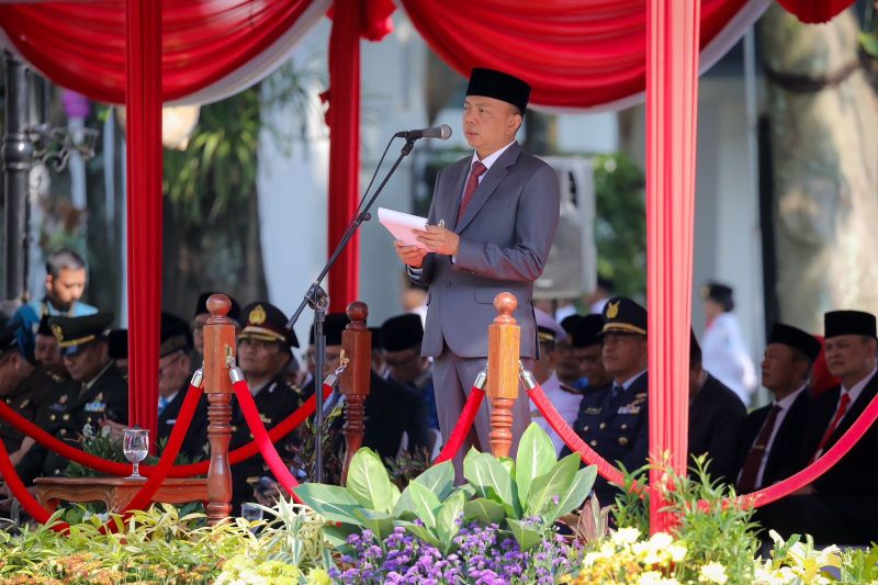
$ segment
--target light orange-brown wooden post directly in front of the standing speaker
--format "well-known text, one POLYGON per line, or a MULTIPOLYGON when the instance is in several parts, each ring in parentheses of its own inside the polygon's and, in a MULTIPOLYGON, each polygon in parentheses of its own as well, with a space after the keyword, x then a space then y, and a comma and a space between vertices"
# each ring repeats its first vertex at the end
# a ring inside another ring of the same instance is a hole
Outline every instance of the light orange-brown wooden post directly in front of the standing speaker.
POLYGON ((518 400, 518 361, 521 327, 513 313, 518 300, 511 293, 494 299, 498 315, 487 328, 487 397, 491 402, 491 450, 509 457, 513 448, 513 406, 518 400))

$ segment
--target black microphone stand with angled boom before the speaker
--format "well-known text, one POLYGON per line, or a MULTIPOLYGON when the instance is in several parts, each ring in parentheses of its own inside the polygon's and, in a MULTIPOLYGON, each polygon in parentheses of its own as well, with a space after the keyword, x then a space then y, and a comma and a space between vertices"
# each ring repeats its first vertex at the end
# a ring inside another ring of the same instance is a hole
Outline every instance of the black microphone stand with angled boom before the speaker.
POLYGON ((335 266, 338 257, 341 256, 341 252, 345 251, 345 248, 347 248, 348 243, 353 237, 353 234, 357 233, 363 222, 368 222, 372 218, 369 210, 381 194, 381 191, 384 190, 384 185, 387 184, 387 181, 396 171, 396 167, 398 167, 403 159, 412 153, 412 149, 415 147, 415 140, 417 140, 417 138, 406 136, 405 145, 403 146, 399 156, 396 158, 396 161, 393 164, 393 167, 391 167, 391 170, 389 170, 387 175, 384 176, 384 180, 381 181, 381 184, 378 187, 375 192, 372 194, 369 201, 367 201, 365 206, 362 207, 357 216, 353 217, 350 225, 348 225, 348 228, 345 230, 345 235, 338 243, 333 256, 330 256, 329 260, 326 261, 326 266, 323 267, 323 270, 320 270, 317 279, 311 284, 311 286, 308 286, 308 290, 305 292, 305 296, 302 299, 302 303, 300 303, 299 308, 296 308, 295 313, 293 313, 293 316, 290 317, 290 320, 286 322, 286 328, 292 329, 295 323, 299 320, 299 317, 302 315, 302 312, 305 311, 306 306, 314 311, 314 397, 317 402, 317 408, 315 410, 316 416, 314 420, 314 481, 316 483, 323 483, 323 387, 320 386, 323 381, 324 363, 326 362, 326 336, 324 335, 323 326, 326 319, 326 307, 329 306, 329 295, 324 290, 322 282, 326 278, 326 274, 328 274, 333 269, 333 266, 335 266))

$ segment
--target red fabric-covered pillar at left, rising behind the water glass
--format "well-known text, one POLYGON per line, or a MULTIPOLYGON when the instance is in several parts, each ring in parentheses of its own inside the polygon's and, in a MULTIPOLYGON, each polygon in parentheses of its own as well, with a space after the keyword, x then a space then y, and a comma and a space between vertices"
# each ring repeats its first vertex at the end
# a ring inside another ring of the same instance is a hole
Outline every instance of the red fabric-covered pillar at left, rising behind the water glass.
MULTIPOLYGON (((161 306, 161 2, 125 1, 128 424, 158 426, 161 306)), ((155 443, 154 443, 155 445, 155 443)))

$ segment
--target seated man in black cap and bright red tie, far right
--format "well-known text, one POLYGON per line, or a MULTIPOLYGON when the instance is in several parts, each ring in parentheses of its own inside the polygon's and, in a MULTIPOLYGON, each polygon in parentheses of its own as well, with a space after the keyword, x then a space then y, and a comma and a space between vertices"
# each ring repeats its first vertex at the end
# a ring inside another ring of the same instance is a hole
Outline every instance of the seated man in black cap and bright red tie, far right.
MULTIPOLYGON (((800 441, 808 463, 822 457, 878 394, 875 315, 824 315, 826 363, 838 387, 813 398, 800 441)), ((818 543, 868 545, 878 526, 878 426, 873 425, 826 473, 791 496, 759 508, 756 519, 781 536, 809 533, 818 543)))

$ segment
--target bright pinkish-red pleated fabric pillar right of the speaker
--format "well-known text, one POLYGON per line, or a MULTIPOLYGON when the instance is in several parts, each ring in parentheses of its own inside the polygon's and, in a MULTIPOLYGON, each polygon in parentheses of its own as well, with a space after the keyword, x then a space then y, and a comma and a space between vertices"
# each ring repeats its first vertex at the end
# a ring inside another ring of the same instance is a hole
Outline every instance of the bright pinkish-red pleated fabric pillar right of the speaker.
MULTIPOLYGON (((686 472, 698 106, 697 0, 650 0, 646 46, 646 256, 650 457, 686 472)), ((650 529, 673 522, 650 473, 650 529)))

